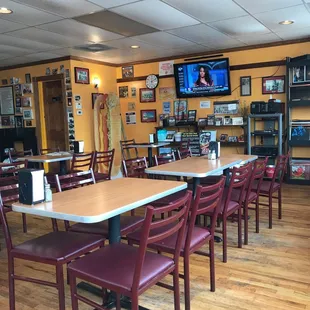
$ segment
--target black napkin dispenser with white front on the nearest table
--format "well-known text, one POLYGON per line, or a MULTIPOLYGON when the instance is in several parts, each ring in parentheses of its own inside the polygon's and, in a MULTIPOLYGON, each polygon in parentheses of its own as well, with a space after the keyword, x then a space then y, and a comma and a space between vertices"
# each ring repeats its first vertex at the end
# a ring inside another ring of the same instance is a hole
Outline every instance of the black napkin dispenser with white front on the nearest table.
POLYGON ((20 170, 18 172, 18 186, 19 202, 32 205, 44 201, 44 170, 20 170))

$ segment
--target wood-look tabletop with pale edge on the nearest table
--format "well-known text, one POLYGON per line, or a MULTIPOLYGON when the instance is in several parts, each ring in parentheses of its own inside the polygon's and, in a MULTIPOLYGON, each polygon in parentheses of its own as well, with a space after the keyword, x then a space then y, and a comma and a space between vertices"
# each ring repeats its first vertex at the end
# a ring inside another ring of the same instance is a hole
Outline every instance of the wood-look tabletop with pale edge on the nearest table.
POLYGON ((53 194, 52 202, 12 204, 15 212, 97 223, 146 205, 187 188, 187 183, 139 178, 120 178, 53 194))

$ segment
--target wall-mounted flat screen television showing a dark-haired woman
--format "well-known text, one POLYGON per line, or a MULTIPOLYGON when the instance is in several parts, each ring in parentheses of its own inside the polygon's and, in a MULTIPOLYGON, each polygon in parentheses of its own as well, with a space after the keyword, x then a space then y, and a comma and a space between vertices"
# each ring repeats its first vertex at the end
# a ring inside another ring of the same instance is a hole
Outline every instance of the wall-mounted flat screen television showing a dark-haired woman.
POLYGON ((230 95, 229 59, 174 65, 178 98, 230 95))

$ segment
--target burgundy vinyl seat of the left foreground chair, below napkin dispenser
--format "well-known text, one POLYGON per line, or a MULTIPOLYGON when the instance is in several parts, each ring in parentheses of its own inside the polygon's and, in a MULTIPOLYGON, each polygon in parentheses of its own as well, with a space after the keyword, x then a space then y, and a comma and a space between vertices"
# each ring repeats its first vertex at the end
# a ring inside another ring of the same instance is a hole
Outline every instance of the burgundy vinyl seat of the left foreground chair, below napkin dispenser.
POLYGON ((51 232, 26 241, 12 249, 12 255, 31 261, 55 264, 71 261, 103 245, 104 238, 66 231, 51 232))

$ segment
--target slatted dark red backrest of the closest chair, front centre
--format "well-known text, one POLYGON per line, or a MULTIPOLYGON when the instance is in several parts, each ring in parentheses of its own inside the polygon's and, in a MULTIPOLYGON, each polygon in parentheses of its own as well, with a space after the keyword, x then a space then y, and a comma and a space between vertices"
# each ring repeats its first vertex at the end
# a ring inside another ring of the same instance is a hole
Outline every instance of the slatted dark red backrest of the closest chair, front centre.
POLYGON ((180 250, 191 199, 192 192, 187 191, 182 198, 179 198, 166 206, 157 208, 147 206, 145 208, 145 219, 141 228, 139 253, 135 265, 132 290, 137 290, 139 287, 141 270, 148 244, 158 242, 173 234, 177 234, 173 260, 176 265, 179 263, 180 250), (168 217, 165 219, 158 219, 158 216, 156 215, 162 214, 168 214, 168 217), (159 233, 156 232, 158 228, 160 228, 159 233))

